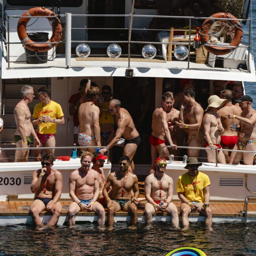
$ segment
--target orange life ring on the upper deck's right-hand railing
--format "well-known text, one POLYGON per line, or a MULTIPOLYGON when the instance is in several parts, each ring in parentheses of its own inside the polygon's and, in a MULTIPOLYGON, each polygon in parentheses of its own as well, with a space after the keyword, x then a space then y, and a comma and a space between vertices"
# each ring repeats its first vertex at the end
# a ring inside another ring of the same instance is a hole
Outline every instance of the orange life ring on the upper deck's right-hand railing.
MULTIPOLYGON (((220 19, 236 19, 235 16, 231 15, 230 13, 215 13, 209 17, 209 19, 206 19, 204 21, 204 24, 202 24, 202 28, 200 31, 200 39, 202 44, 211 45, 211 42, 209 40, 209 30, 213 22, 216 21, 216 19, 211 18, 220 18, 220 19)), ((225 20, 229 22, 234 30, 235 30, 235 36, 232 42, 227 46, 204 46, 208 52, 211 52, 212 54, 216 55, 224 55, 232 52, 235 50, 234 47, 230 46, 239 46, 239 43, 241 43, 241 40, 243 38, 243 30, 241 23, 239 20, 225 20)))

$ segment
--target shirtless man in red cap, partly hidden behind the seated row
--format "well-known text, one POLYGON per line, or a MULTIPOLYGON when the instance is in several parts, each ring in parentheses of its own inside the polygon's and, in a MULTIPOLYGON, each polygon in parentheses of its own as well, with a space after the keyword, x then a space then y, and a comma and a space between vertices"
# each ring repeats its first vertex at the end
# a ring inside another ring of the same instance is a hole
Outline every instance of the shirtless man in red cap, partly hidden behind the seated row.
POLYGON ((108 159, 108 156, 103 156, 100 152, 93 154, 93 167, 92 169, 98 173, 99 176, 99 196, 97 201, 104 207, 106 206, 105 198, 103 197, 102 190, 106 182, 106 177, 103 171, 103 166, 105 160, 108 159))

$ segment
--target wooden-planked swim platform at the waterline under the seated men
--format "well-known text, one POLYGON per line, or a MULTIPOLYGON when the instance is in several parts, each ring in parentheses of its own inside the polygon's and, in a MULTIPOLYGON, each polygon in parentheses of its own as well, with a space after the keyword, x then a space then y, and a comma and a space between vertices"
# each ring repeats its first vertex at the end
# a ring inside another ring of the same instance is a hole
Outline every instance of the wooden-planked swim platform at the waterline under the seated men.
MULTIPOLYGON (((32 224, 32 217, 29 212, 32 200, 18 200, 0 201, 0 225, 8 224, 32 224)), ((67 212, 71 201, 61 201, 62 212, 58 221, 59 225, 67 223, 67 212)), ((144 203, 144 202, 143 202, 144 203)), ((180 202, 174 202, 177 206, 181 221, 180 202)), ((210 208, 212 210, 213 222, 224 221, 244 221, 245 214, 244 204, 241 201, 226 201, 226 202, 211 202, 210 208)), ((105 209, 107 211, 107 209, 105 209)), ((248 204, 247 221, 256 221, 256 202, 248 204)), ((144 221, 145 213, 138 209, 138 221, 144 221)), ((51 214, 43 211, 40 214, 43 223, 47 223, 51 214)), ((97 221, 98 215, 94 212, 80 211, 76 215, 76 222, 94 222, 97 221)), ((117 221, 130 221, 129 213, 125 211, 118 211, 114 216, 117 221)), ((189 221, 204 221, 204 215, 200 213, 190 213, 189 221)), ((156 212, 153 215, 153 221, 171 221, 171 216, 168 213, 156 212)))

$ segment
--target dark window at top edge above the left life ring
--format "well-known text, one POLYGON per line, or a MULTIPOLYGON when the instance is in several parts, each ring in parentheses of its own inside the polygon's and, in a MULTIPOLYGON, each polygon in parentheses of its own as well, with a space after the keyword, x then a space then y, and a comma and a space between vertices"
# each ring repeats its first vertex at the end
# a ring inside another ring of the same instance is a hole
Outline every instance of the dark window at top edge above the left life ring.
MULTIPOLYGON (((7 3, 11 6, 57 6, 56 0, 7 0, 7 3)), ((62 0, 60 1, 60 6, 79 7, 82 3, 83 0, 62 0)))

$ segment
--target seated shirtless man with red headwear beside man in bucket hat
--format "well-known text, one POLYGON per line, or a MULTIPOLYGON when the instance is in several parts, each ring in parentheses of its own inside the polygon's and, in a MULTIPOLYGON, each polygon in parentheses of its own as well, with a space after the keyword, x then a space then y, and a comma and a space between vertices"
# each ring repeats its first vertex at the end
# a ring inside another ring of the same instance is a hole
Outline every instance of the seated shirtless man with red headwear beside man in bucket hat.
POLYGON ((179 228, 178 210, 173 200, 173 179, 164 174, 166 161, 162 157, 155 160, 156 172, 149 174, 145 180, 145 195, 147 204, 145 206, 145 220, 152 221, 152 215, 156 211, 165 211, 171 214, 172 223, 175 228, 179 228), (161 201, 164 202, 161 205, 161 201))

